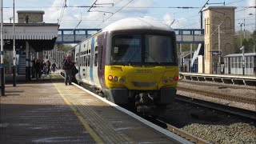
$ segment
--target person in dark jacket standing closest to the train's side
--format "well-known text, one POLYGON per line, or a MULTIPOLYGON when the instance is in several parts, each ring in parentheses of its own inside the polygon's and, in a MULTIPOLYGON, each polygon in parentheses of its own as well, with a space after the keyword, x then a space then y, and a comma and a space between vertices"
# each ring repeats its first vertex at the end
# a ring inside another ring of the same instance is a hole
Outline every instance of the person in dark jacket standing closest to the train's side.
POLYGON ((62 63, 63 65, 63 70, 65 70, 65 84, 67 86, 67 83, 69 83, 69 85, 71 85, 72 82, 72 65, 73 62, 71 60, 71 56, 70 54, 68 54, 66 56, 66 59, 64 60, 64 62, 62 63))

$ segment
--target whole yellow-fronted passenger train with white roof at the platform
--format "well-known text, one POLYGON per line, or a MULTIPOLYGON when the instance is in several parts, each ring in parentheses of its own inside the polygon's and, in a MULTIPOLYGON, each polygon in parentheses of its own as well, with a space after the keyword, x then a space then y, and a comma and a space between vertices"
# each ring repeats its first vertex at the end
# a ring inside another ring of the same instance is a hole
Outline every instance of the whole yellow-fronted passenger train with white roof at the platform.
POLYGON ((116 104, 144 114, 165 110, 178 84, 176 36, 149 18, 114 22, 74 46, 76 79, 116 104))

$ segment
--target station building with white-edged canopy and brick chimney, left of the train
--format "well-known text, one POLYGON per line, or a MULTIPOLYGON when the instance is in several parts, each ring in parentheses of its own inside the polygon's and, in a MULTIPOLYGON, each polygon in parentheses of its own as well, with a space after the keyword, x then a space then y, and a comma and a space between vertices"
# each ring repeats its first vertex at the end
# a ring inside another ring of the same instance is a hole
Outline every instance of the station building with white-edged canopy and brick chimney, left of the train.
POLYGON ((43 22, 42 10, 20 10, 17 13, 18 23, 3 23, 2 26, 4 66, 6 75, 11 74, 10 67, 15 62, 16 74, 30 80, 31 60, 42 58, 43 50, 54 49, 59 25, 43 22))

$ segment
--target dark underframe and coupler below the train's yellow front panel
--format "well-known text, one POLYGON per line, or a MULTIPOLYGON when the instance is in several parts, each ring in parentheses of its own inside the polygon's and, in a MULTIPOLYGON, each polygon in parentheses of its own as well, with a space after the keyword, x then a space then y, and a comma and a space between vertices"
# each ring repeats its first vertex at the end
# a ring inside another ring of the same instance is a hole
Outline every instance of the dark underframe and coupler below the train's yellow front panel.
POLYGON ((139 114, 158 116, 163 114, 166 106, 174 102, 176 89, 161 90, 127 90, 107 89, 106 98, 118 105, 126 105, 139 114))

